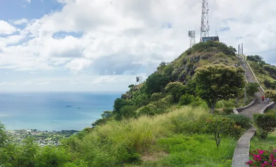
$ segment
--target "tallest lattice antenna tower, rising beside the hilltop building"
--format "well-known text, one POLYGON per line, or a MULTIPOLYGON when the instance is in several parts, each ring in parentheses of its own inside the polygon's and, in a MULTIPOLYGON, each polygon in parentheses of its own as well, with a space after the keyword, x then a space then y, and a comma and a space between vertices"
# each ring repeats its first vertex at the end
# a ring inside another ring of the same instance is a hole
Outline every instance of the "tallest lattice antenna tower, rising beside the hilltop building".
POLYGON ((200 26, 200 42, 202 37, 209 37, 209 14, 208 14, 208 0, 202 0, 202 11, 201 11, 201 26, 200 26))

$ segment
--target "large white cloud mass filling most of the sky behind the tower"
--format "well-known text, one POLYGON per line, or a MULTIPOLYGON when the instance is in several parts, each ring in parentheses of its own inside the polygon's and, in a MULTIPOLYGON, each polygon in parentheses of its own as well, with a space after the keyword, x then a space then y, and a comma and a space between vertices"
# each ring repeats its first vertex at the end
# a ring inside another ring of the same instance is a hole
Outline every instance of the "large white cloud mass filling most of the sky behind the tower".
MULTIPOLYGON (((0 21, 1 34, 19 31, 0 38, 0 68, 134 76, 149 74, 161 61, 183 53, 189 46, 187 32, 194 27, 199 42, 202 0, 57 1, 64 5, 60 11, 14 21, 26 23, 20 31, 0 21)), ((275 4, 275 0, 209 1, 209 35, 215 34, 216 27, 221 42, 236 48, 243 43, 245 54, 261 54, 276 64, 275 54, 270 54, 276 53, 275 4)), ((110 79, 104 77, 90 84, 110 79)))

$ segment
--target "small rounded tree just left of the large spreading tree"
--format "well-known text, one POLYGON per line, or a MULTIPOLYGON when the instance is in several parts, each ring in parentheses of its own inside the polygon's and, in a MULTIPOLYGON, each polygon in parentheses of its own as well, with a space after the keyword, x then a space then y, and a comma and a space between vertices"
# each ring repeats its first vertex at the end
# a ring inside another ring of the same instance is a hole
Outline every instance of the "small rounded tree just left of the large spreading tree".
POLYGON ((170 82, 165 90, 173 96, 174 102, 179 102, 180 97, 184 94, 184 85, 181 82, 170 82))

